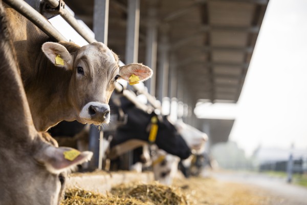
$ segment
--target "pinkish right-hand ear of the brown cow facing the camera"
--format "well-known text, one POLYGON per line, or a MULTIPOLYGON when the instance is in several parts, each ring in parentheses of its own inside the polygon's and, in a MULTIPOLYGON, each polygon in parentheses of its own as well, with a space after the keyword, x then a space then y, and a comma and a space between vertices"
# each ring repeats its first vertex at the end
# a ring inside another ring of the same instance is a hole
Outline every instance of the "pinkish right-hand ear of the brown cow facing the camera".
POLYGON ((134 80, 134 83, 147 80, 152 76, 152 70, 143 64, 129 64, 119 69, 119 75, 127 81, 129 81, 131 75, 137 76, 137 81, 134 80))

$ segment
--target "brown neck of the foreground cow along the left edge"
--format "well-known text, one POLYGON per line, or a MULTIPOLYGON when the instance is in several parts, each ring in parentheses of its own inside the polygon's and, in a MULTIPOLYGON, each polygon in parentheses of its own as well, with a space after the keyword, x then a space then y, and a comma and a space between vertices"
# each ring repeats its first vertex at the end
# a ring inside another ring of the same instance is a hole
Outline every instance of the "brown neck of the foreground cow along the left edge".
POLYGON ((0 7, 0 146, 4 149, 17 149, 33 141, 37 132, 33 126, 4 15, 3 8, 0 7))

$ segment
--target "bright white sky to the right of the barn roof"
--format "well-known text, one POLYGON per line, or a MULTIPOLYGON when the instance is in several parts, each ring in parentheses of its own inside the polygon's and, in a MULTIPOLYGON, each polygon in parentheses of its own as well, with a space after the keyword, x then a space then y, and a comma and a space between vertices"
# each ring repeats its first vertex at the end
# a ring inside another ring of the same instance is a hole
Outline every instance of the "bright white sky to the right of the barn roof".
POLYGON ((229 139, 247 155, 259 145, 307 151, 306 0, 270 0, 237 105, 201 110, 235 118, 229 139))

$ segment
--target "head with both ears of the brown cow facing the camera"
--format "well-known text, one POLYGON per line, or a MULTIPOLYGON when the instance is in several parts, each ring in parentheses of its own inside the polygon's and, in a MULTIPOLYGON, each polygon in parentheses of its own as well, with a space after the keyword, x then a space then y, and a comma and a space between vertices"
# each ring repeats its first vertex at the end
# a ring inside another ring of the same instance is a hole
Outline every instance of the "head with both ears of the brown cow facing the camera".
POLYGON ((72 73, 68 98, 76 112, 75 118, 83 124, 109 122, 108 101, 117 79, 129 81, 129 77, 137 76, 133 81, 144 81, 152 75, 152 70, 142 64, 119 67, 118 56, 102 43, 75 45, 72 53, 68 51, 72 43, 61 44, 45 43, 42 51, 55 66, 72 73))

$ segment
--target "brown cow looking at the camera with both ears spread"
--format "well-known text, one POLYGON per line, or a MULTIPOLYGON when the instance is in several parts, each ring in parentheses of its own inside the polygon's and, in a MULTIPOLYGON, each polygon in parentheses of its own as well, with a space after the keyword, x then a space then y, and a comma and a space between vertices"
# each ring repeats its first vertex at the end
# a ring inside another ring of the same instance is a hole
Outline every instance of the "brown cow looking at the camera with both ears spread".
POLYGON ((79 47, 51 39, 11 8, 13 40, 35 128, 47 131, 62 120, 109 122, 108 100, 118 78, 151 77, 142 64, 119 67, 118 56, 102 43, 79 47), (46 43, 47 42, 47 43, 46 43))

